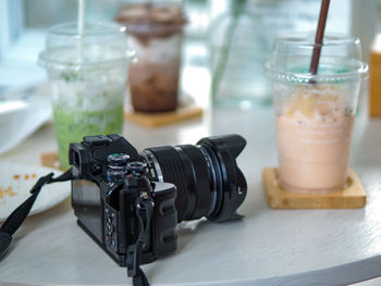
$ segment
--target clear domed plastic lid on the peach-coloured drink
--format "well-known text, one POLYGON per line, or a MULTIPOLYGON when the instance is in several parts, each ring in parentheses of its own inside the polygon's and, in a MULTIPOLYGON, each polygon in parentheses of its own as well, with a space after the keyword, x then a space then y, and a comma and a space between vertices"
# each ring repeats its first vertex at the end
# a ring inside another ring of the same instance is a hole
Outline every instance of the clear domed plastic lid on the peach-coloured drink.
POLYGON ((309 72, 315 48, 315 34, 296 34, 279 37, 272 57, 266 64, 267 75, 272 79, 298 83, 340 82, 364 78, 368 65, 361 61, 361 46, 356 37, 327 35, 321 46, 318 74, 309 72))

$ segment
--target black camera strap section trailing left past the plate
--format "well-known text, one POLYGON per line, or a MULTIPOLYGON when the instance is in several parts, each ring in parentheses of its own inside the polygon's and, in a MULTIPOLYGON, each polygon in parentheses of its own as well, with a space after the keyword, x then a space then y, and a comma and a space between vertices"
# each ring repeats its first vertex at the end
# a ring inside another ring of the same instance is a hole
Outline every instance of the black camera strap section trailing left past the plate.
POLYGON ((12 235, 22 225, 33 204, 35 203, 38 194, 46 184, 56 182, 65 182, 73 178, 72 169, 67 170, 62 175, 53 178, 54 174, 50 173, 44 177, 40 177, 37 183, 30 189, 32 196, 27 198, 22 204, 20 204, 4 221, 0 227, 0 258, 7 252, 12 241, 12 235))

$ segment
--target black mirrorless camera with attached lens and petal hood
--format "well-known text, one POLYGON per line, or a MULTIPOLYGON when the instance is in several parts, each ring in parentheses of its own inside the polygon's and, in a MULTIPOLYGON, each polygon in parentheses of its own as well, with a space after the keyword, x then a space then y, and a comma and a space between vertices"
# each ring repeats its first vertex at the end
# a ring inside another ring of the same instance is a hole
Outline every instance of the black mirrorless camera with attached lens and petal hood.
POLYGON ((235 159, 245 145, 228 135, 138 153, 119 135, 84 137, 69 151, 77 222, 134 276, 140 263, 176 250, 177 223, 241 217, 247 186, 235 159))

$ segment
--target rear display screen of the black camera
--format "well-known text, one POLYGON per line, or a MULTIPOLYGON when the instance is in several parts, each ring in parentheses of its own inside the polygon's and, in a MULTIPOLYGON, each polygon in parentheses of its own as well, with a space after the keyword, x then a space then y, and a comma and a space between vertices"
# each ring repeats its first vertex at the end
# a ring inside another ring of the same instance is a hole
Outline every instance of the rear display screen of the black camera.
POLYGON ((72 203, 76 216, 93 235, 102 240, 98 185, 87 179, 74 179, 72 190, 72 203))

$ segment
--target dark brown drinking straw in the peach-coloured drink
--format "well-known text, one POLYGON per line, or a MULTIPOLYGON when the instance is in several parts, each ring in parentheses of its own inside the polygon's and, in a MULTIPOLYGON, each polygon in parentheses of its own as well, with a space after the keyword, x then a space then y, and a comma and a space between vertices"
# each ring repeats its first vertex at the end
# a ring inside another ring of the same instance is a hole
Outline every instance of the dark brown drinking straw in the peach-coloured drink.
POLYGON ((321 52, 321 46, 323 43, 324 29, 325 29, 325 24, 327 24, 327 15, 328 15, 329 7, 330 7, 330 0, 322 0, 321 1, 319 23, 318 23, 318 28, 317 28, 316 36, 315 36, 314 53, 312 53, 311 64, 309 66, 309 72, 312 75, 316 75, 318 73, 320 52, 321 52))

